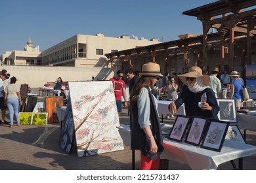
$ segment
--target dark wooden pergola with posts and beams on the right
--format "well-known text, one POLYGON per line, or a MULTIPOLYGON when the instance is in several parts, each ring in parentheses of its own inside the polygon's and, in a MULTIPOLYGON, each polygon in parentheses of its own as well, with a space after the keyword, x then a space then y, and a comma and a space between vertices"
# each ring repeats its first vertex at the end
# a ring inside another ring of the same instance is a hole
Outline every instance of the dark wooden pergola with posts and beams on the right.
POLYGON ((255 62, 251 60, 251 45, 256 42, 256 8, 253 8, 255 5, 255 0, 223 0, 184 11, 182 14, 195 16, 202 21, 202 35, 112 52, 105 54, 105 56, 110 59, 111 63, 114 60, 121 61, 123 69, 124 61, 129 61, 129 67, 132 68, 133 58, 137 58, 137 60, 140 58, 141 61, 143 56, 150 56, 152 59, 148 61, 155 62, 156 56, 161 55, 165 58, 166 72, 169 56, 182 54, 184 56, 182 67, 185 69, 189 62, 187 54, 193 52, 196 54, 194 64, 207 67, 209 65, 207 50, 219 48, 221 50, 219 58, 225 59, 225 53, 228 53, 228 65, 232 69, 234 67, 235 46, 245 44, 245 46, 243 45, 243 51, 246 54, 244 65, 253 64, 255 62), (243 10, 245 8, 251 9, 243 10), (208 33, 211 28, 217 29, 217 33, 208 33))

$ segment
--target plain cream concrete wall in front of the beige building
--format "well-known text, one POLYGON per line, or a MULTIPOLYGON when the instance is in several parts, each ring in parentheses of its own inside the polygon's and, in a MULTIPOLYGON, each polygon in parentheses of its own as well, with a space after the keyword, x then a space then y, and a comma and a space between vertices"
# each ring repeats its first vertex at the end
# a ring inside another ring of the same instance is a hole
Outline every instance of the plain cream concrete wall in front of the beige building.
POLYGON ((61 77, 63 81, 109 80, 114 76, 116 69, 109 68, 79 68, 79 67, 43 67, 43 66, 18 66, 1 65, 1 70, 6 69, 11 77, 17 78, 16 84, 29 84, 31 88, 43 87, 47 82, 54 82, 61 77))

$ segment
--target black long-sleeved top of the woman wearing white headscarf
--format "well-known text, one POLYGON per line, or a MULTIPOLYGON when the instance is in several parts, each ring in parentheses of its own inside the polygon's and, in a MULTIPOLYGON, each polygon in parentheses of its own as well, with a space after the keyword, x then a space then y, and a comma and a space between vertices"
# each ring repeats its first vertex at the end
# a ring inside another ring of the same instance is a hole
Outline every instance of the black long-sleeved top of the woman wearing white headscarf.
POLYGON ((205 88, 202 92, 193 93, 188 88, 181 93, 181 96, 175 101, 177 108, 181 107, 184 103, 186 116, 202 116, 209 119, 219 120, 217 114, 219 112, 219 105, 215 94, 211 88, 205 88), (213 110, 202 110, 198 107, 198 102, 201 101, 203 93, 207 95, 207 103, 213 108, 213 110))

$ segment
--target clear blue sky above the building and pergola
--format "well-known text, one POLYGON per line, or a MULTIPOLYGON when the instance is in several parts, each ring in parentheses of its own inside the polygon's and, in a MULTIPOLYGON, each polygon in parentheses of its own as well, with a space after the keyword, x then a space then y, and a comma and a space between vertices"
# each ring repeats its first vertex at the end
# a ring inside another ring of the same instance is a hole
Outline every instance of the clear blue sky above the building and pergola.
POLYGON ((182 12, 215 0, 8 0, 1 1, 0 55, 24 50, 31 37, 43 51, 74 35, 132 35, 173 41, 202 34, 202 22, 182 12))

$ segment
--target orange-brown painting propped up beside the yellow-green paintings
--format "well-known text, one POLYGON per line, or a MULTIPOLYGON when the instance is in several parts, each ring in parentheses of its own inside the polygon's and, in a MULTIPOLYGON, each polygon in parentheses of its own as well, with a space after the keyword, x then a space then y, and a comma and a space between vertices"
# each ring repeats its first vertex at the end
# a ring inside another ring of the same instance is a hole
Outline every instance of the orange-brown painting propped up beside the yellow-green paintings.
POLYGON ((48 112, 48 123, 58 122, 56 107, 63 106, 63 97, 45 97, 45 112, 48 112))

